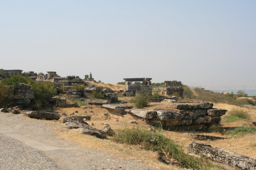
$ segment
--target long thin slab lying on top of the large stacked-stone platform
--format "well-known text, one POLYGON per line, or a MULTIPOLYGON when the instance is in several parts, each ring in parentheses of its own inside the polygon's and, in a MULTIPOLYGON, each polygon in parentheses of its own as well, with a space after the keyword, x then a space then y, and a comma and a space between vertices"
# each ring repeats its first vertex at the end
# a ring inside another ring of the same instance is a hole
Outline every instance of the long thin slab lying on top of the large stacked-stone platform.
POLYGON ((211 109, 214 104, 212 103, 200 103, 200 104, 173 104, 174 108, 180 110, 193 110, 193 109, 211 109))

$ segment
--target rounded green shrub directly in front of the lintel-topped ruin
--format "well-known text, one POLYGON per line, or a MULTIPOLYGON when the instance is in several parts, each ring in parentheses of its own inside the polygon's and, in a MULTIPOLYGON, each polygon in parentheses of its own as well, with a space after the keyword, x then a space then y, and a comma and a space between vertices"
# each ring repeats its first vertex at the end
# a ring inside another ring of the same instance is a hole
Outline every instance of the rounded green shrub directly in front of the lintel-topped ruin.
POLYGON ((135 93, 134 97, 134 105, 137 109, 141 109, 143 107, 146 107, 150 104, 151 100, 151 91, 146 88, 141 88, 135 93))

